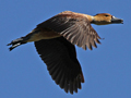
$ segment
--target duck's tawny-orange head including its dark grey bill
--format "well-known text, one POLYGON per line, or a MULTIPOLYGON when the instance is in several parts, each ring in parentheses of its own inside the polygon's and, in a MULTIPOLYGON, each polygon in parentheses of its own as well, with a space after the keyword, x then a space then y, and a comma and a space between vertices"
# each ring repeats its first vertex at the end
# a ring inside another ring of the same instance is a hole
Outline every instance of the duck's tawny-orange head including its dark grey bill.
POLYGON ((93 16, 92 23, 96 25, 123 24, 123 20, 117 19, 108 13, 99 13, 93 16))

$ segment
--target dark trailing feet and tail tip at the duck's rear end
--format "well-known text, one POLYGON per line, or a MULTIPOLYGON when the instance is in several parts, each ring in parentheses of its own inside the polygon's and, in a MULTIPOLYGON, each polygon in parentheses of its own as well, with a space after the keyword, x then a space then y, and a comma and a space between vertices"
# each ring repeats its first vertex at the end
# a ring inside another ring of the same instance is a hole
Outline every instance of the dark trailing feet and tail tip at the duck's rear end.
POLYGON ((16 48, 17 46, 20 46, 20 45, 23 45, 23 44, 26 44, 26 41, 24 40, 24 37, 21 37, 21 38, 17 38, 17 39, 15 39, 15 40, 12 40, 10 44, 8 44, 7 46, 11 46, 10 48, 9 48, 9 50, 11 51, 11 50, 13 50, 14 48, 16 48))

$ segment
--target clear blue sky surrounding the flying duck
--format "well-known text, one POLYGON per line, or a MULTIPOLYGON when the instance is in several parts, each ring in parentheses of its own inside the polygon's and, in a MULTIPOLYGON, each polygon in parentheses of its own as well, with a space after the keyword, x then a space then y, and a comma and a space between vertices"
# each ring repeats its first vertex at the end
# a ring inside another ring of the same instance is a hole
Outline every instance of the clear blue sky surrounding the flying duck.
POLYGON ((131 98, 131 0, 1 0, 0 98, 131 98), (40 22, 70 10, 110 13, 123 24, 93 25, 102 45, 93 51, 76 47, 85 83, 66 94, 51 79, 34 44, 9 51, 5 45, 25 36, 40 22))

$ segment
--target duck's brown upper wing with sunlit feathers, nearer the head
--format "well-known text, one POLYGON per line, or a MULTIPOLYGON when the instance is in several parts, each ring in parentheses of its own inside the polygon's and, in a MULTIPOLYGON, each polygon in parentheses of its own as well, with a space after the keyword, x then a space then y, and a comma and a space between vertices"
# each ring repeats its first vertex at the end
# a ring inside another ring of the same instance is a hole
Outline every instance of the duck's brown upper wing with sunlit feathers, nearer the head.
POLYGON ((95 42, 100 44, 95 29, 91 26, 90 21, 82 14, 74 12, 62 12, 44 23, 37 25, 37 28, 49 28, 62 35, 73 45, 78 45, 86 50, 97 47, 95 42))

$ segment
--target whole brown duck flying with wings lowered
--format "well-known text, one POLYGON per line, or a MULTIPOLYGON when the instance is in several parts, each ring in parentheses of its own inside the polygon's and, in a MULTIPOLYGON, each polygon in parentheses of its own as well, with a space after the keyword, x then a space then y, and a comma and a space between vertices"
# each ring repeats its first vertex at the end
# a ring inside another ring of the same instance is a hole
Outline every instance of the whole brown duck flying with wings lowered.
POLYGON ((123 20, 109 13, 88 15, 63 11, 38 24, 26 36, 12 40, 8 46, 11 46, 11 51, 20 45, 34 41, 36 51, 46 63, 55 83, 66 93, 78 93, 85 81, 76 58, 75 45, 84 50, 93 50, 102 39, 91 24, 123 24, 123 20))

